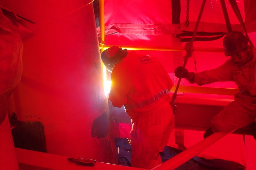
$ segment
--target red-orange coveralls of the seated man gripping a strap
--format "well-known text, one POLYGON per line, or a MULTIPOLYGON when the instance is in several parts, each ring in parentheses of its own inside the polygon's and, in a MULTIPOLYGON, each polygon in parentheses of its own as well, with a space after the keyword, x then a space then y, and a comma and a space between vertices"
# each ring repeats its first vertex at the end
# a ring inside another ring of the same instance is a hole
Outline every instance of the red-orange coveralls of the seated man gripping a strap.
POLYGON ((254 122, 256 117, 256 50, 253 59, 238 67, 231 59, 216 69, 194 73, 195 79, 190 83, 198 85, 217 81, 234 81, 240 90, 235 100, 212 118, 213 131, 233 130, 254 122))

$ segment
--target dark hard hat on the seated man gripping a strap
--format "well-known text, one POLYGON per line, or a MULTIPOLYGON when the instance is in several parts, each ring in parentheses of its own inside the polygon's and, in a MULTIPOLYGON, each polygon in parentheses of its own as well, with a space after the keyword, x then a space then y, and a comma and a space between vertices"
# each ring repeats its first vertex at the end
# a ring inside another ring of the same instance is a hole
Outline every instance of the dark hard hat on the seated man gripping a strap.
POLYGON ((239 31, 227 33, 223 39, 224 54, 235 55, 244 51, 248 44, 248 38, 239 31))

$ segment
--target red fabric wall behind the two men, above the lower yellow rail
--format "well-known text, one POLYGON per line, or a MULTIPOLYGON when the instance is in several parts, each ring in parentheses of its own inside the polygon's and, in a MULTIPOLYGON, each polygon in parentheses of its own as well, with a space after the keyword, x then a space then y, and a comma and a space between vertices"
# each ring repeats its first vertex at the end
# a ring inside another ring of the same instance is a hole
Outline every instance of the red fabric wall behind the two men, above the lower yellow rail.
MULTIPOLYGON (((189 41, 191 39, 202 2, 202 0, 190 1, 188 4, 187 1, 179 0, 166 0, 161 1, 161 3, 158 1, 130 0, 129 2, 124 2, 105 0, 105 43, 106 45, 124 47, 142 46, 170 49, 184 47, 185 42, 182 40, 187 38, 189 41), (174 9, 179 8, 179 5, 177 6, 179 3, 180 13, 179 11, 174 11, 174 9), (189 25, 185 26, 184 23, 187 17, 189 25), (173 18, 176 18, 176 20, 174 21, 173 18), (177 18, 180 23, 176 22, 177 18)), ((245 1, 237 1, 236 3, 242 18, 245 20, 245 1)), ((252 6, 255 5, 252 2, 251 4, 252 6)), ((244 31, 228 1, 226 2, 226 8, 232 29, 244 31)), ((248 31, 251 33, 254 30, 250 29, 248 31)), ((100 28, 98 28, 97 32, 98 36, 100 36, 100 28)), ((206 1, 197 32, 201 34, 196 35, 194 46, 195 48, 202 48, 204 52, 197 52, 192 59, 189 59, 188 66, 192 68, 191 71, 195 71, 194 58, 197 62, 198 71, 208 66, 210 66, 208 67, 209 69, 219 66, 228 59, 221 51, 206 52, 207 48, 223 48, 222 39, 225 33, 228 32, 220 1, 206 1), (211 63, 213 63, 212 66, 211 63)), ((250 36, 253 39, 254 33, 252 34, 250 36)), ((142 53, 157 57, 172 77, 175 67, 183 64, 182 57, 185 55, 185 52, 180 52, 180 48, 173 51, 143 51, 142 53)), ((173 80, 176 82, 174 78, 173 80)), ((214 84, 213 86, 218 87, 219 84, 214 84)), ((224 87, 236 88, 234 83, 227 83, 224 87)))

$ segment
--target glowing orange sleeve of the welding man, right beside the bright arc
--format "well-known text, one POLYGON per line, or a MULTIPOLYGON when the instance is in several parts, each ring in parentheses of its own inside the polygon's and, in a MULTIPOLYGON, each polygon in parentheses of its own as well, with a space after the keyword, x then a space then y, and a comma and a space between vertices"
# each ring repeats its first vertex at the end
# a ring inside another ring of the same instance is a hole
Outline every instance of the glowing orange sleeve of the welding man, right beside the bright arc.
POLYGON ((111 90, 108 95, 108 99, 111 101, 114 107, 121 108, 127 102, 127 74, 125 69, 118 69, 118 66, 113 69, 111 73, 111 90))

